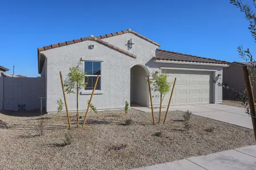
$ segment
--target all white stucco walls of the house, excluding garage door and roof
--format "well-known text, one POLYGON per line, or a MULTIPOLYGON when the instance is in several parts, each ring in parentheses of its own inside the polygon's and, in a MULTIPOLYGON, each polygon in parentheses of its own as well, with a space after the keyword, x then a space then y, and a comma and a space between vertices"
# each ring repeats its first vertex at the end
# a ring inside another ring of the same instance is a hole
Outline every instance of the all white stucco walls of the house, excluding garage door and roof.
MULTIPOLYGON (((60 48, 54 48, 43 51, 46 59, 47 67, 44 68, 43 75, 46 76, 46 96, 47 96, 47 112, 57 111, 57 100, 63 99, 61 90, 59 71, 62 72, 63 78, 69 72, 69 67, 75 66, 81 59, 90 61, 102 61, 101 64, 101 88, 102 91, 96 93, 93 96, 92 104, 98 109, 116 109, 124 108, 125 101, 130 103, 130 97, 133 97, 131 101, 139 100, 139 96, 131 95, 131 90, 136 90, 130 86, 131 67, 140 65, 139 70, 144 70, 140 79, 144 80, 143 86, 147 85, 146 76, 150 75, 150 78, 154 76, 155 71, 161 73, 160 67, 176 67, 176 68, 190 68, 190 69, 212 69, 212 78, 216 79, 217 74, 222 74, 222 67, 220 66, 200 66, 200 65, 184 65, 173 63, 156 63, 152 61, 152 57, 155 56, 155 50, 158 46, 143 40, 133 33, 125 33, 123 35, 108 37, 104 41, 109 42, 119 48, 129 51, 137 56, 136 59, 126 56, 120 52, 108 48, 105 45, 99 44, 96 41, 83 41, 76 44, 62 46, 60 48), (127 41, 133 40, 133 48, 127 49, 127 41), (89 45, 94 45, 93 49, 89 48, 89 45), (131 95, 131 96, 130 96, 131 95), (136 99, 135 99, 136 97, 136 99)), ((82 62, 84 63, 84 62, 82 62)), ((133 79, 131 81, 136 81, 133 79)), ((222 82, 222 79, 218 80, 222 82)), ((131 83, 133 84, 133 82, 131 83)), ((136 88, 141 88, 136 87, 136 88)), ((147 87, 146 87, 147 88, 147 87)), ((212 84, 213 100, 214 102, 222 101, 222 88, 216 84, 212 84)), ((147 89, 148 91, 148 89, 147 89)), ((147 94, 146 91, 143 91, 147 94)), ((154 92, 152 95, 155 95, 154 92)), ((150 104, 149 95, 147 97, 147 105, 150 104)), ((79 95, 79 109, 85 110, 87 108, 87 100, 90 99, 90 93, 84 94, 82 92, 79 95)), ((76 95, 67 95, 69 111, 76 110, 76 95)), ((159 104, 160 99, 154 97, 153 104, 159 104)), ((213 102, 213 103, 214 103, 213 102)), ((64 108, 65 109, 65 108, 64 108)))

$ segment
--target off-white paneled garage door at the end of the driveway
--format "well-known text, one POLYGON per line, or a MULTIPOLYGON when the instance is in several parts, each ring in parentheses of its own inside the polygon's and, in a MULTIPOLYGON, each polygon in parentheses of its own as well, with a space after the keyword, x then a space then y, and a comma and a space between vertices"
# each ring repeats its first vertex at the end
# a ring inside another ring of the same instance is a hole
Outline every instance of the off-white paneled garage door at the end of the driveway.
MULTIPOLYGON (((168 81, 176 84, 172 104, 199 104, 210 102, 210 74, 209 71, 177 71, 162 70, 168 75, 168 81)), ((164 97, 163 105, 168 105, 170 92, 164 97)))

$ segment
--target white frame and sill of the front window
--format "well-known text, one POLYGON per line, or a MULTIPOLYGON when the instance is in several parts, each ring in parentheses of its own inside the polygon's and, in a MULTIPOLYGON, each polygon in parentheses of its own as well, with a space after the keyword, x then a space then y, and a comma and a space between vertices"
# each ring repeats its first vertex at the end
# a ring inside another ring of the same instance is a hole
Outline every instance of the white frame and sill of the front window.
MULTIPOLYGON (((84 72, 85 72, 85 62, 86 61, 90 61, 90 62, 100 62, 100 64, 101 64, 101 75, 102 75, 102 62, 103 62, 103 60, 98 60, 98 59, 81 59, 81 61, 82 61, 82 67, 84 68, 84 72)), ((99 77, 101 78, 102 76, 101 75, 99 75, 99 77)), ((87 75, 86 74, 86 76, 98 76, 98 75, 87 75)), ((102 78, 101 78, 101 84, 100 84, 100 89, 101 90, 95 90, 94 91, 94 95, 102 95, 104 92, 103 92, 103 90, 102 90, 102 78)), ((82 88, 82 91, 81 91, 81 94, 82 95, 92 95, 92 91, 93 90, 85 90, 85 88, 82 88)))

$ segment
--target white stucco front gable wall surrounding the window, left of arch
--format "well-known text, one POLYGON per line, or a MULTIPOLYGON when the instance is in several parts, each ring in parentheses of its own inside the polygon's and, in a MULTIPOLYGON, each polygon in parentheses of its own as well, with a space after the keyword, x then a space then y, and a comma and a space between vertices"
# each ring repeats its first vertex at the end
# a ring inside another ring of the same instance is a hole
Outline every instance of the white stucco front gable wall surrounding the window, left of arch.
MULTIPOLYGON (((59 71, 63 79, 69 67, 75 66, 80 59, 101 60, 101 90, 95 94, 92 104, 98 109, 124 108, 130 102, 130 57, 119 53, 96 41, 84 41, 42 52, 47 56, 47 112, 57 111, 57 100, 63 99, 59 71), (94 45, 89 49, 89 45, 94 45)), ((84 62, 82 62, 84 63, 84 62)), ((79 95, 79 109, 87 109, 90 94, 79 95)), ((69 111, 76 110, 76 95, 67 94, 69 111)), ((65 108, 64 108, 65 109, 65 108)))

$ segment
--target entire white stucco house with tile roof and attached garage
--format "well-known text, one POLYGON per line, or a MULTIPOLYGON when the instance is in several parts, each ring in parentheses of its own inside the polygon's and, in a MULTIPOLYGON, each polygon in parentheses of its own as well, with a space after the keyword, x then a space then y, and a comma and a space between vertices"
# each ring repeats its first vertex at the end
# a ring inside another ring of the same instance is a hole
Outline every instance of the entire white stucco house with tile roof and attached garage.
MULTIPOLYGON (((222 68, 229 62, 197 57, 158 49, 160 44, 131 29, 102 36, 89 36, 38 48, 38 71, 46 78, 46 111, 57 111, 57 100, 63 99, 59 71, 63 78, 69 67, 82 62, 88 87, 80 94, 80 110, 86 110, 87 100, 96 76, 100 82, 92 103, 97 109, 119 109, 125 101, 150 106, 146 81, 156 73, 165 73, 170 82, 177 77, 172 105, 219 103, 222 68)), ((170 94, 163 105, 168 104, 170 94)), ((69 110, 76 109, 76 96, 67 95, 69 110)), ((153 98, 158 105, 159 98, 153 98)))

